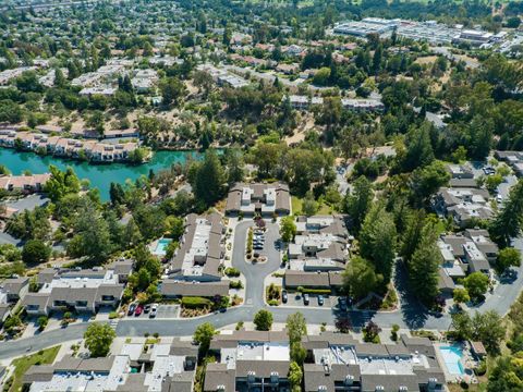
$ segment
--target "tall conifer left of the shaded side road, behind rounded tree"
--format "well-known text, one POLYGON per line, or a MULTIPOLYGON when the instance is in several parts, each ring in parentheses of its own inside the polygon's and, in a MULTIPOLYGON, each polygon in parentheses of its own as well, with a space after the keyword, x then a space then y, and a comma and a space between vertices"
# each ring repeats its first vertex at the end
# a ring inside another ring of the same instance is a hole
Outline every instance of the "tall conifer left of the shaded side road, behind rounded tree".
POLYGON ((396 225, 391 213, 382 204, 374 205, 363 221, 360 232, 360 253, 373 262, 376 273, 384 277, 384 284, 390 281, 396 248, 396 225))

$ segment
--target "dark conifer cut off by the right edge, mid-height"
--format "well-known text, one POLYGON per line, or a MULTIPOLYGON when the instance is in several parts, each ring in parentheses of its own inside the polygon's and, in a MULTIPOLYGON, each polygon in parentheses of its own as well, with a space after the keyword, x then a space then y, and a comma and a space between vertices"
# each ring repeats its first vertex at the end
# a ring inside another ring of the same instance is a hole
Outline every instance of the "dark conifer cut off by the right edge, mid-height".
POLYGON ((523 223, 523 180, 510 189, 509 197, 489 226, 490 236, 504 248, 516 237, 523 223))

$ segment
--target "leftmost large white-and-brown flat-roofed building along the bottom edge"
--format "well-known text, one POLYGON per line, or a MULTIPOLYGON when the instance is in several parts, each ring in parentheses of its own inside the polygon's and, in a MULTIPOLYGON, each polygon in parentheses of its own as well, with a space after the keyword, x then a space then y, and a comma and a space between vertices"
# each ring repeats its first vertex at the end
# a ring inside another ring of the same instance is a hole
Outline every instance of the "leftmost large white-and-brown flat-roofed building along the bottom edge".
POLYGON ((198 347, 174 340, 148 346, 125 343, 102 358, 65 356, 53 365, 34 365, 23 377, 31 392, 191 392, 198 347))

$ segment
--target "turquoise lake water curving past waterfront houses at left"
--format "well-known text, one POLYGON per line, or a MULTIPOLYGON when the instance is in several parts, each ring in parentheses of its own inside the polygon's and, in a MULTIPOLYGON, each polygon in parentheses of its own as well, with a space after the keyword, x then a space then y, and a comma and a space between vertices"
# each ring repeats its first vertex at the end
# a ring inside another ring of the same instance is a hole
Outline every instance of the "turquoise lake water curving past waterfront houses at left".
POLYGON ((136 180, 142 174, 147 175, 149 170, 155 172, 168 169, 173 163, 185 162, 188 156, 197 157, 196 151, 157 151, 153 159, 144 164, 129 166, 124 163, 88 164, 54 157, 40 157, 34 152, 19 152, 14 149, 0 148, 0 164, 5 166, 14 175, 22 174, 25 170, 33 174, 49 172, 49 164, 60 169, 72 167, 80 179, 87 179, 92 187, 100 189, 104 201, 109 199, 111 182, 124 183, 126 179, 136 180))

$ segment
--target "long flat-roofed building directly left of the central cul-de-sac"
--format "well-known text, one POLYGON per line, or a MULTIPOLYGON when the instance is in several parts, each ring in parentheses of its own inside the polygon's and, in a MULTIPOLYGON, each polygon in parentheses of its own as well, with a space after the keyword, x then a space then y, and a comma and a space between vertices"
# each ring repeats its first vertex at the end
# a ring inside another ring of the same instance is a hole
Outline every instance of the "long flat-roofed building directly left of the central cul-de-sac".
POLYGON ((185 231, 180 248, 166 267, 160 292, 167 297, 227 295, 229 281, 221 280, 223 234, 221 216, 191 213, 185 218, 185 231))

